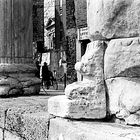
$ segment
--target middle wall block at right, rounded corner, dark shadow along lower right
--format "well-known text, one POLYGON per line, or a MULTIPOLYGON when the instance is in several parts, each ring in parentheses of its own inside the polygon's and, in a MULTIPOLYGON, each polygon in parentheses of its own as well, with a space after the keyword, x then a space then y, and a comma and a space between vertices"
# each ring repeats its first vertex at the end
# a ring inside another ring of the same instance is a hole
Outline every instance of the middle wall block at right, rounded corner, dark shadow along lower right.
POLYGON ((104 58, 105 78, 140 77, 140 38, 113 39, 104 58))

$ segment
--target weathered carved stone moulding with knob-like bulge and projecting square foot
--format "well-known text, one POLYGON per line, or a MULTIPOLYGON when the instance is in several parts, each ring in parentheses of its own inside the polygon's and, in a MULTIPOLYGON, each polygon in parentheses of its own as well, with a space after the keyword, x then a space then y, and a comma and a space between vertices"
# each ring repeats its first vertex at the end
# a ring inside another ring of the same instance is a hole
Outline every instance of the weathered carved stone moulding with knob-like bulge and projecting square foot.
POLYGON ((106 97, 103 79, 105 44, 95 41, 88 44, 82 60, 75 65, 83 81, 65 88, 65 96, 48 100, 50 114, 68 118, 101 119, 106 116, 106 97))

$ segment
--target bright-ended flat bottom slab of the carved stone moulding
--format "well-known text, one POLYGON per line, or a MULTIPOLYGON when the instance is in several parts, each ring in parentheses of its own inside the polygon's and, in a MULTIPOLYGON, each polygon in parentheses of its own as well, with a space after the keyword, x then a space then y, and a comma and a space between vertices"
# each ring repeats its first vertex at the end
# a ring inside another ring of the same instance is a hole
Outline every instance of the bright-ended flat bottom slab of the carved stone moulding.
POLYGON ((55 96, 48 100, 48 112, 66 118, 101 119, 106 116, 106 102, 104 99, 100 102, 102 103, 98 100, 70 100, 65 95, 55 96))

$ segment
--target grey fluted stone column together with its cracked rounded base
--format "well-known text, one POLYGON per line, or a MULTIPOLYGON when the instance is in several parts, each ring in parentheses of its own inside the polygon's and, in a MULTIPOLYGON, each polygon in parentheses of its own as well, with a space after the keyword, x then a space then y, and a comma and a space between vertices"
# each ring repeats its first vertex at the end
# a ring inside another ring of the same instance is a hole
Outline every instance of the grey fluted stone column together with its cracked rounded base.
POLYGON ((37 93, 32 0, 0 0, 0 13, 0 96, 37 93))

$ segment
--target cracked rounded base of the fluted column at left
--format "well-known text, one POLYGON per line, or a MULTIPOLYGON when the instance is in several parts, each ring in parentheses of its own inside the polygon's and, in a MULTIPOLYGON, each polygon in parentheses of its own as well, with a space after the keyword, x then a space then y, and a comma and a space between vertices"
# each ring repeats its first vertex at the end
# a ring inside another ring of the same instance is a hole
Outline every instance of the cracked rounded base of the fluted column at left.
POLYGON ((0 64, 0 97, 37 94, 41 80, 27 64, 0 64))

